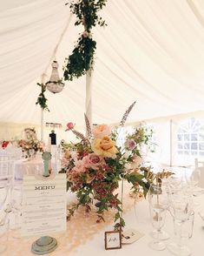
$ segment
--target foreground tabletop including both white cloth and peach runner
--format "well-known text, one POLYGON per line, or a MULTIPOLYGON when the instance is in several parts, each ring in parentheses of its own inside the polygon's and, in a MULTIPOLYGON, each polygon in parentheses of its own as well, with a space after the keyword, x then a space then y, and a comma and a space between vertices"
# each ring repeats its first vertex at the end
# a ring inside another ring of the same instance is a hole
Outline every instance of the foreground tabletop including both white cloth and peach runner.
MULTIPOLYGON (((198 216, 198 211, 204 212, 204 194, 195 197, 195 201, 198 203, 195 206, 195 219, 194 219, 194 234, 191 239, 186 241, 186 244, 191 248, 192 255, 200 256, 204 252, 204 228, 202 227, 202 220, 198 216)), ((127 199, 129 200, 129 199, 127 199)), ((124 245, 122 249, 108 250, 104 249, 104 232, 113 230, 113 223, 109 225, 101 223, 96 224, 93 222, 90 225, 89 216, 81 216, 81 218, 74 218, 67 224, 67 232, 64 234, 56 235, 59 246, 56 251, 49 253, 50 256, 135 256, 135 255, 151 255, 151 256, 170 256, 173 255, 169 253, 168 250, 164 251, 154 251, 149 246, 148 243, 151 241, 149 232, 152 231, 152 226, 149 220, 148 214, 148 200, 142 199, 140 202, 134 206, 134 201, 131 199, 132 203, 128 211, 124 214, 124 219, 126 221, 126 229, 135 228, 136 230, 143 232, 145 235, 137 240, 132 245, 124 245), (136 215, 135 215, 136 212, 136 215)), ((171 239, 167 240, 166 243, 172 241, 174 238, 173 230, 173 219, 170 214, 167 214, 167 219, 165 226, 163 227, 167 231, 171 239)), ((30 253, 30 247, 32 242, 36 238, 30 239, 12 239, 12 232, 10 232, 10 246, 3 254, 3 256, 31 256, 34 255, 30 253)))

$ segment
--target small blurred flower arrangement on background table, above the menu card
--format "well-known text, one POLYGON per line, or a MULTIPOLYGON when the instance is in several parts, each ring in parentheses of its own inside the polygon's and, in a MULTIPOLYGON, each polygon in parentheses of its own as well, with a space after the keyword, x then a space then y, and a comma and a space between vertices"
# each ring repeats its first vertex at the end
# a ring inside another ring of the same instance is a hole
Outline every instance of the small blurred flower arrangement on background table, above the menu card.
POLYGON ((31 158, 36 152, 43 152, 43 142, 36 138, 35 128, 25 128, 23 139, 17 141, 17 146, 22 148, 23 157, 31 158))

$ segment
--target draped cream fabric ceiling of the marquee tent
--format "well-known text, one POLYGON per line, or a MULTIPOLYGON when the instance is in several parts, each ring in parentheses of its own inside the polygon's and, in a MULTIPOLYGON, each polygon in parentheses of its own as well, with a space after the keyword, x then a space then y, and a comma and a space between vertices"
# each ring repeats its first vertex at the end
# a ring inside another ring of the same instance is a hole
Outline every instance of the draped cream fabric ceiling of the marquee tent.
MULTIPOLYGON (((1 1, 0 122, 40 124, 36 98, 56 51, 64 58, 82 27, 63 0, 1 1)), ((117 123, 137 101, 128 121, 204 110, 204 1, 108 0, 97 27, 93 72, 93 122, 117 123)), ((83 125, 85 77, 46 92, 45 122, 83 125)))

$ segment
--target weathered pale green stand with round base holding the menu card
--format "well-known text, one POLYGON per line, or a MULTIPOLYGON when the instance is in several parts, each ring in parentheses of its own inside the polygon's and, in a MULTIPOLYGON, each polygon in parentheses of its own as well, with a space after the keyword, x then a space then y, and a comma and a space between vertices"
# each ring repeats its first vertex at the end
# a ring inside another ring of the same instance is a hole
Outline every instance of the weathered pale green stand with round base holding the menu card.
MULTIPOLYGON (((49 177, 49 161, 51 160, 52 155, 50 152, 43 152, 42 158, 44 162, 43 177, 49 177)), ((55 251, 56 247, 56 239, 49 236, 43 236, 32 244, 31 252, 38 255, 43 255, 55 251)))

